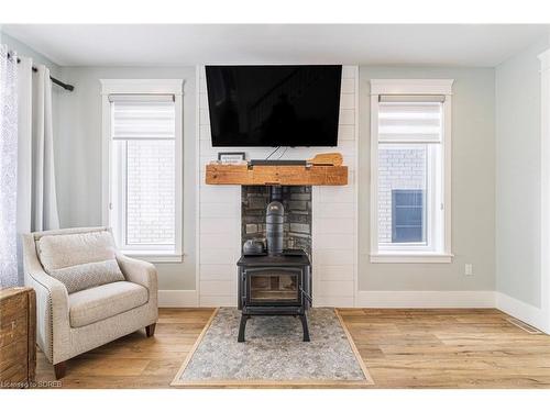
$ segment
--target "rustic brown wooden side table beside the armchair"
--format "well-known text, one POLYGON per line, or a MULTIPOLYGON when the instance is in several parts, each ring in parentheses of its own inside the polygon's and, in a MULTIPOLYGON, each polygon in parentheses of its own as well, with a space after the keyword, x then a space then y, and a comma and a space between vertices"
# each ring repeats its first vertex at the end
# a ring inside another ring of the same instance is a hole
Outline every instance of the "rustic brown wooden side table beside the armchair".
POLYGON ((36 294, 0 289, 0 388, 26 388, 36 371, 36 294))

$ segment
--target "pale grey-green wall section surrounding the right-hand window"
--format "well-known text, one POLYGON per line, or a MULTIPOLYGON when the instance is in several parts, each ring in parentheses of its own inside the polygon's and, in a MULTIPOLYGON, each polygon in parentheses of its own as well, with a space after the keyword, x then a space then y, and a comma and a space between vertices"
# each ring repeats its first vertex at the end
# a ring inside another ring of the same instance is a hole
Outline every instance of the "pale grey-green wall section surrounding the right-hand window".
POLYGON ((360 304, 492 305, 495 288, 495 77, 491 68, 360 68, 360 304), (372 264, 370 250, 370 80, 454 79, 451 264, 372 264), (473 276, 464 264, 473 264, 473 276), (449 291, 453 293, 436 293, 449 291), (455 292, 457 291, 457 292, 455 292), (428 293, 428 294, 427 294, 428 293), (431 294, 430 294, 431 293, 431 294))

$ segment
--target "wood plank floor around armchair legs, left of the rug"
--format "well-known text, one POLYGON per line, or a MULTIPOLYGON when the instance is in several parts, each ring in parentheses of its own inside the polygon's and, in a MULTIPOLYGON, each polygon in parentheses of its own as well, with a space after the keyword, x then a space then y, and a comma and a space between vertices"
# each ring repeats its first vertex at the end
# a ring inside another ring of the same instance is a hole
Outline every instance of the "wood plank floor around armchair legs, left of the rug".
MULTIPOLYGON (((212 309, 161 309, 155 335, 145 329, 67 360, 62 388, 169 388, 212 309)), ((54 380, 44 354, 36 379, 54 380)))

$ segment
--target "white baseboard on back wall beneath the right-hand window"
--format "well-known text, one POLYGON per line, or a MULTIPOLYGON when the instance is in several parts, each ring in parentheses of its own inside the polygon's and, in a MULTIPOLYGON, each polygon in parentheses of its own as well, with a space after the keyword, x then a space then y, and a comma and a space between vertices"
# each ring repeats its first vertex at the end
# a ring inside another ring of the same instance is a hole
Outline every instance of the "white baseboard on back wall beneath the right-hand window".
POLYGON ((495 308, 492 290, 360 290, 355 308, 495 308))

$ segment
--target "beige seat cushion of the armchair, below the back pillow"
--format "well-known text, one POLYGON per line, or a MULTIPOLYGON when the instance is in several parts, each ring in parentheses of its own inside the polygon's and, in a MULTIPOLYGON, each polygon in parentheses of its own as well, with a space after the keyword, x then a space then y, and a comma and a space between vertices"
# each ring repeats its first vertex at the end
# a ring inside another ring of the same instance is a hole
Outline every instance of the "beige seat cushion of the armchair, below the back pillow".
POLYGON ((145 304, 148 291, 143 286, 118 281, 68 296, 72 327, 81 327, 145 304))

